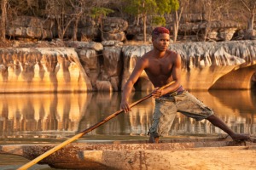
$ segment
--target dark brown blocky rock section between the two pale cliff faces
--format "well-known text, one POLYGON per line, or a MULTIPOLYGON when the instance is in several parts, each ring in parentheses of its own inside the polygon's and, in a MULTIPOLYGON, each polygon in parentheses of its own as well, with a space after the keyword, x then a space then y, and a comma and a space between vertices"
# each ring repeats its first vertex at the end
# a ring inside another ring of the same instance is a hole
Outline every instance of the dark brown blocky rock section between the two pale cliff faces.
POLYGON ((121 47, 105 47, 102 53, 93 49, 77 49, 92 88, 95 91, 118 91, 122 59, 121 47))

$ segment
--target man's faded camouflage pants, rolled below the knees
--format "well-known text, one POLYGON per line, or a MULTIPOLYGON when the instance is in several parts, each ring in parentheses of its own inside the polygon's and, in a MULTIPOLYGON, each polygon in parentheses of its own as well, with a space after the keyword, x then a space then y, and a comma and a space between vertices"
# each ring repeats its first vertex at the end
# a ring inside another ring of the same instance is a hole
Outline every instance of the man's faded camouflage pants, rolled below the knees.
POLYGON ((172 97, 160 97, 155 99, 153 123, 148 133, 154 137, 168 135, 177 112, 195 118, 196 121, 206 119, 213 114, 207 105, 187 91, 172 97))

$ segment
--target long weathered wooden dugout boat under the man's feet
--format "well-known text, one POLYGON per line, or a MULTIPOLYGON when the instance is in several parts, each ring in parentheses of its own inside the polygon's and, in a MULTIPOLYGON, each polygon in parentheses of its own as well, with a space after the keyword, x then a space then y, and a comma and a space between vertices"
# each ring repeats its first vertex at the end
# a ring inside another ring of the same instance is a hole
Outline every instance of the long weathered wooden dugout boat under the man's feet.
MULTIPOLYGON (((44 154, 55 144, 1 145, 1 154, 28 160, 44 154)), ((167 139, 146 141, 72 143, 39 161, 65 169, 256 169, 256 139, 167 139)))

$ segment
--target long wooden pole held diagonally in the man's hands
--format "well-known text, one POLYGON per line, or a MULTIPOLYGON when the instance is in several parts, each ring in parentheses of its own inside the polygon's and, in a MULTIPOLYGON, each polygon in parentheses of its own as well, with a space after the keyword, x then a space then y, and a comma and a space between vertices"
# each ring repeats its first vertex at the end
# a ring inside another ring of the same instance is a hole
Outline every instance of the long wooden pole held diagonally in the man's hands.
MULTIPOLYGON (((168 84, 166 84, 166 86, 161 87, 160 89, 164 89, 167 88, 168 86, 170 86, 173 82, 170 82, 168 84)), ((136 102, 132 103, 130 105, 130 108, 143 102, 145 99, 148 99, 150 97, 152 97, 152 93, 148 94, 147 96, 143 97, 143 99, 139 99, 136 102)), ((41 156, 36 157, 35 159, 33 159, 32 161, 27 162, 25 165, 23 165, 22 167, 19 167, 17 170, 24 170, 27 169, 28 167, 32 167, 34 164, 36 164, 38 161, 43 160, 45 157, 49 156, 50 154, 54 153, 57 150, 61 150, 62 147, 64 147, 67 144, 72 143, 74 140, 81 138, 84 134, 86 133, 90 133, 90 131, 94 130, 96 127, 101 126, 102 124, 104 124, 105 122, 108 122, 110 119, 112 119, 115 116, 118 116, 121 112, 123 112, 123 110, 119 110, 114 112, 112 115, 107 116, 105 119, 103 119, 101 122, 97 122, 95 125, 85 129, 84 131, 82 131, 81 133, 78 133, 76 135, 74 135, 71 139, 67 139, 66 141, 62 142, 61 144, 56 145, 54 148, 44 152, 44 154, 42 154, 41 156)))

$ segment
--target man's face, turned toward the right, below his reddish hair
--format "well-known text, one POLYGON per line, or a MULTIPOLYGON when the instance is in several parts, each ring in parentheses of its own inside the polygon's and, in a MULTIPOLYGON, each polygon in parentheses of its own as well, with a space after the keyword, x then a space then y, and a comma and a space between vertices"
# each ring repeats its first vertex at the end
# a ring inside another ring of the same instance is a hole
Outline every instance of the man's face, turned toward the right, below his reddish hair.
POLYGON ((160 34, 158 37, 153 39, 153 45, 154 48, 160 50, 160 51, 165 51, 170 44, 170 35, 169 34, 160 34))

